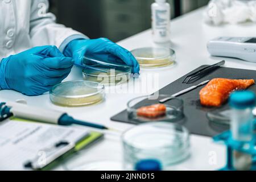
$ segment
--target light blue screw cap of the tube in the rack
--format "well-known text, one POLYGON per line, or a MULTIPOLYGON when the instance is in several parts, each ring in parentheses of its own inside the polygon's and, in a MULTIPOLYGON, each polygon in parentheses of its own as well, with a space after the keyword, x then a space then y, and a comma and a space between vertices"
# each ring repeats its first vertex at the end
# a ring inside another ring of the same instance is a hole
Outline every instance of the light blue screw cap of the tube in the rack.
POLYGON ((230 96, 229 105, 236 109, 246 109, 255 106, 256 97, 251 91, 238 91, 230 96))

